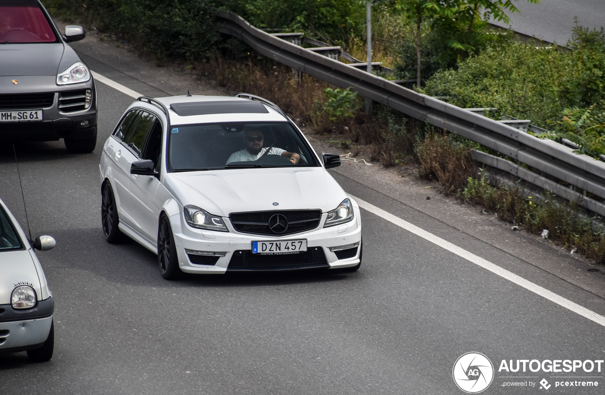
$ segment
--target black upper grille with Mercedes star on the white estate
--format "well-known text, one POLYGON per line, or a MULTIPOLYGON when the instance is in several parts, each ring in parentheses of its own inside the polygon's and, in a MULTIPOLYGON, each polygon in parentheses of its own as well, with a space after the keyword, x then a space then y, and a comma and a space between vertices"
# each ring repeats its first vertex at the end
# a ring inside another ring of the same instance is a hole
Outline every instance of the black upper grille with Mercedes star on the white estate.
POLYGON ((229 218, 238 232, 283 236, 315 229, 321 219, 321 210, 235 212, 229 218), (286 217, 288 227, 284 232, 276 233, 269 228, 269 218, 275 214, 286 217))

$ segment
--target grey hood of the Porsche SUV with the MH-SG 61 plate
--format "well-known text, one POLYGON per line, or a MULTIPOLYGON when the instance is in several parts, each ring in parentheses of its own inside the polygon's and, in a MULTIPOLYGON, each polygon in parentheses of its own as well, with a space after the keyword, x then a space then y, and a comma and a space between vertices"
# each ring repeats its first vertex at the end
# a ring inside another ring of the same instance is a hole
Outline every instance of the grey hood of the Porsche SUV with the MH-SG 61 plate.
POLYGON ((0 76, 56 76, 64 50, 61 43, 2 45, 0 76))

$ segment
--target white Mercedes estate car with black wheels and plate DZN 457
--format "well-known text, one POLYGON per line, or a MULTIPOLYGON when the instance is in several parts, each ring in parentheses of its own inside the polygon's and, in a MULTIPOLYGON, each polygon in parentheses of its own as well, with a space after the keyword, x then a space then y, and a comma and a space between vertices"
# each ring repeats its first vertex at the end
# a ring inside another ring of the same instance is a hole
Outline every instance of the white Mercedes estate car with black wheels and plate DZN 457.
POLYGON ((357 203, 275 104, 258 96, 139 97, 103 145, 102 224, 186 273, 361 265, 357 203))

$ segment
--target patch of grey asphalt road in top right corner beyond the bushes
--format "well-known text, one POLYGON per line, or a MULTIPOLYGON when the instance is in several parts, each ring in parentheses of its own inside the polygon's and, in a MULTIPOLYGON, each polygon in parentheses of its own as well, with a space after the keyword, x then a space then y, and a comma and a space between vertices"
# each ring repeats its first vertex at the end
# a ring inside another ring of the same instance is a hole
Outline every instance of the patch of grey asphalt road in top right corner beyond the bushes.
POLYGON ((492 23, 560 45, 572 38, 576 17, 578 25, 590 29, 600 30, 605 25, 603 0, 540 0, 540 4, 518 0, 513 4, 520 12, 509 13, 508 25, 499 21, 492 23))

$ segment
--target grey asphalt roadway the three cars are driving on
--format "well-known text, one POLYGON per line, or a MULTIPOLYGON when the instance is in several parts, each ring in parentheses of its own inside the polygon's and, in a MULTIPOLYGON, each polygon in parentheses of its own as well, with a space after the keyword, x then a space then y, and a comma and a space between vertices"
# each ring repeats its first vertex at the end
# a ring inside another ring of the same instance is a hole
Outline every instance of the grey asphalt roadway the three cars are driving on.
MULTIPOLYGON (((161 94, 85 60, 126 87, 161 94)), ((38 253, 56 303, 56 345, 43 364, 25 353, 0 357, 0 394, 462 394, 452 368, 469 351, 494 364, 487 394, 602 393, 603 365, 568 374, 498 369, 502 359, 603 360, 603 325, 364 209, 356 273, 165 281, 154 254, 103 239, 100 151, 133 99, 100 82, 97 91, 93 154, 68 154, 62 142, 17 146, 32 232, 57 240, 38 253), (590 376, 580 380, 601 388, 555 387, 551 376, 590 376)), ((338 171, 350 194, 605 315, 594 293, 338 171)), ((8 145, 0 147, 0 182, 0 197, 25 226, 8 145)))

